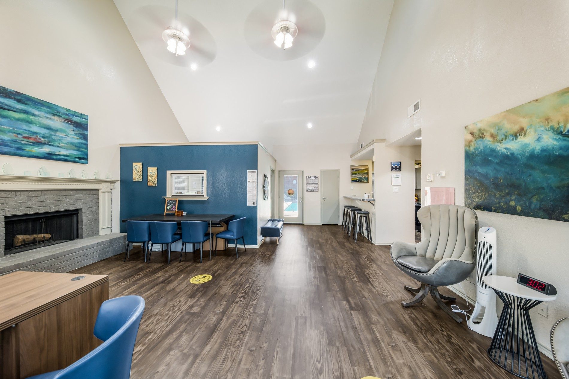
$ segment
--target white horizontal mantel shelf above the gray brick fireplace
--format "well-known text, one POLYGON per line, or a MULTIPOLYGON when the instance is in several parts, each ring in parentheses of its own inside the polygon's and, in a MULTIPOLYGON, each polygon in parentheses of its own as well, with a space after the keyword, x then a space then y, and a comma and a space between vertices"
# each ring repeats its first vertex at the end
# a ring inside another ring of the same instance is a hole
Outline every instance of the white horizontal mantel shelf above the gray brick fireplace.
POLYGON ((114 179, 0 175, 0 190, 114 189, 114 179))

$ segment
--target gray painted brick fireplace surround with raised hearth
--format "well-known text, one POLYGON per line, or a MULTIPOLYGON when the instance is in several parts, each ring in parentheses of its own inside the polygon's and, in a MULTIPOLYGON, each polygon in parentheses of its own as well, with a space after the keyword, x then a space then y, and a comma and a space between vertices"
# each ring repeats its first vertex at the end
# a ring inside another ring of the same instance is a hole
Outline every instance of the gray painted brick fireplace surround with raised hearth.
MULTIPOLYGON (((0 189, 0 275, 16 270, 69 272, 123 252, 126 235, 110 233, 110 189, 115 181, 101 182, 106 193, 92 183, 86 189, 0 189), (108 207, 103 211, 107 228, 100 223, 101 207, 108 207), (5 216, 62 210, 79 210, 79 239, 5 255, 5 216), (100 235, 102 230, 107 234, 100 235)), ((6 182, 0 178, 0 184, 6 182)))

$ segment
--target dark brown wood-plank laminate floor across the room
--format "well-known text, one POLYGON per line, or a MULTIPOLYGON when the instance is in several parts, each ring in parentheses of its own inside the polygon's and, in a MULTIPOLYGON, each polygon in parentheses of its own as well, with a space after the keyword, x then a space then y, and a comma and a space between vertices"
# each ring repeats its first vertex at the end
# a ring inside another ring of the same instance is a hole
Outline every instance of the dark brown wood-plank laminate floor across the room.
POLYGON ((133 378, 514 378, 486 356, 489 338, 431 298, 401 306, 414 282, 388 247, 354 244, 339 226, 287 225, 280 242, 239 259, 131 253, 76 272, 109 274, 111 297, 146 299, 133 378), (213 279, 190 284, 197 274, 213 279))

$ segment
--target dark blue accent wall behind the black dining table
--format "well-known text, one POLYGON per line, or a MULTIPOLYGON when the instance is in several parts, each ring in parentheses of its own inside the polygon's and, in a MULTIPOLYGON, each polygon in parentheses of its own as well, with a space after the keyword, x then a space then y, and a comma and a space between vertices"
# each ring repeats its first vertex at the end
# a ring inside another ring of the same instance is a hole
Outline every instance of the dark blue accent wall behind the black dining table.
POLYGON ((245 243, 257 245, 257 206, 247 206, 247 170, 257 170, 257 151, 256 144, 121 147, 121 220, 164 213, 167 170, 207 170, 209 199, 180 200, 178 209, 245 216, 245 243), (133 162, 142 162, 142 182, 133 181, 133 162), (157 168, 158 186, 147 184, 149 167, 157 168))

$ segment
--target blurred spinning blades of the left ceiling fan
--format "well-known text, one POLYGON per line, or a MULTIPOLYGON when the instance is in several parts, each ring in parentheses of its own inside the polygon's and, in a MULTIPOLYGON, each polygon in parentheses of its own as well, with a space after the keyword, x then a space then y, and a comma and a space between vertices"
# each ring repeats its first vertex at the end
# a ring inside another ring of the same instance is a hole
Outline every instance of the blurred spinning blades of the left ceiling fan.
POLYGON ((176 27, 174 8, 144 6, 134 11, 129 27, 137 36, 137 43, 146 52, 170 64, 188 67, 197 64, 203 67, 215 59, 217 46, 211 33, 198 20, 178 10, 178 29, 188 36, 189 48, 184 55, 175 56, 166 49, 162 32, 170 26, 176 27))

